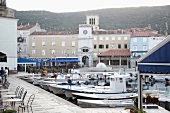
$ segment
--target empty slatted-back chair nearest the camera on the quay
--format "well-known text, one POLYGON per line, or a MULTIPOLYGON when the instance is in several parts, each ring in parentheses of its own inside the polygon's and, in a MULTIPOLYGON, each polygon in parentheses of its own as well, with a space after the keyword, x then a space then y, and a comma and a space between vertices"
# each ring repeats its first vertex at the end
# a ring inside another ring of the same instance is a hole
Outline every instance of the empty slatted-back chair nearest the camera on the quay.
POLYGON ((25 112, 25 108, 27 108, 27 111, 29 113, 29 107, 31 108, 31 112, 33 113, 31 105, 32 105, 32 102, 34 101, 34 98, 35 98, 35 95, 32 94, 28 99, 27 105, 24 105, 24 102, 21 103, 21 105, 18 106, 18 113, 19 113, 19 108, 22 108, 22 113, 23 113, 23 110, 25 112))

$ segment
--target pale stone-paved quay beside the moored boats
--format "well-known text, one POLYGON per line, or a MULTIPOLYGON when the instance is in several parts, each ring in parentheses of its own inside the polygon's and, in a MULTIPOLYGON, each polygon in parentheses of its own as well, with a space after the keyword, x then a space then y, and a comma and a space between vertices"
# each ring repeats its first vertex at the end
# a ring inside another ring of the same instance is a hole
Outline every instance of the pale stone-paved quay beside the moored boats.
MULTIPOLYGON (((19 79, 19 76, 27 75, 27 73, 19 72, 18 74, 11 74, 8 77, 10 82, 9 90, 15 91, 17 86, 23 87, 27 90, 25 103, 31 94, 35 94, 35 100, 32 104, 33 113, 130 113, 125 110, 125 107, 117 108, 81 108, 57 95, 34 86, 24 80, 19 79)), ((15 109, 18 109, 16 104, 15 109)), ((169 113, 162 107, 159 109, 144 109, 147 113, 169 113)), ((21 109, 20 109, 21 112, 21 109)), ((28 113, 27 110, 25 113, 28 113)))

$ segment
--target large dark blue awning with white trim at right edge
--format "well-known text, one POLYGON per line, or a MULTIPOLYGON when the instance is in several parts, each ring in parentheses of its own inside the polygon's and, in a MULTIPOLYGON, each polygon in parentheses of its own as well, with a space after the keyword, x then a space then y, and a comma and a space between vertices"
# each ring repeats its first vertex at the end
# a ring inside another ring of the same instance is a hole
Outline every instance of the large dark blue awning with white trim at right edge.
POLYGON ((140 73, 170 73, 170 36, 138 60, 140 73))

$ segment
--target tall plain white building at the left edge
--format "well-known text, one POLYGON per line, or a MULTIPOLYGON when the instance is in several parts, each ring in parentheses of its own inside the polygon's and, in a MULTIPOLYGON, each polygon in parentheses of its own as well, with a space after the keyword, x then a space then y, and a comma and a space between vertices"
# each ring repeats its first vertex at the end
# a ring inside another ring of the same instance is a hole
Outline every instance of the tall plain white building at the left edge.
POLYGON ((17 70, 17 22, 14 11, 0 0, 0 67, 17 70))

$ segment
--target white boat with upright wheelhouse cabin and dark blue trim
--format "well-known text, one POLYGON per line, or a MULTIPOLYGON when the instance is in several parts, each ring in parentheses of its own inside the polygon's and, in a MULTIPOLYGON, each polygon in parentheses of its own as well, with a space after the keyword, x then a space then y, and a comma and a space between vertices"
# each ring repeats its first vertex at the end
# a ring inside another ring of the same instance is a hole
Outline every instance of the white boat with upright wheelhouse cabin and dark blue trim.
MULTIPOLYGON (((115 74, 113 76, 110 76, 110 86, 92 86, 88 87, 88 85, 85 86, 71 86, 71 87, 66 87, 62 88, 65 92, 66 97, 73 97, 73 93, 88 93, 88 94, 114 94, 117 95, 117 99, 120 94, 129 94, 127 92, 126 88, 126 79, 129 77, 128 75, 119 75, 115 74)), ((136 93, 133 93, 134 95, 136 93)), ((131 94, 130 94, 131 95, 131 94)), ((124 98, 129 98, 128 95, 127 97, 125 96, 124 98)))

